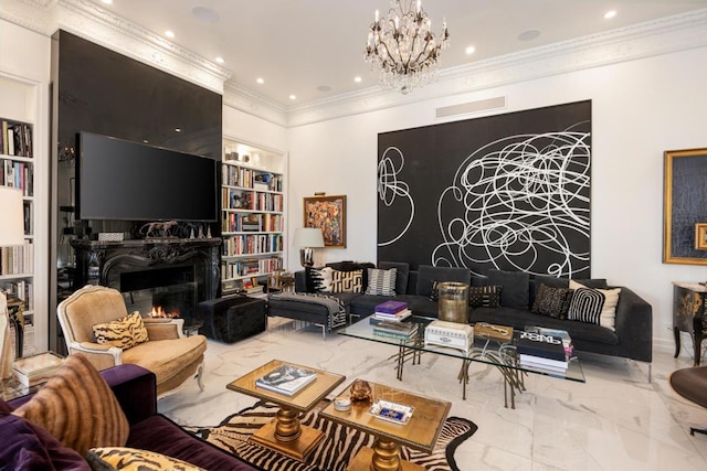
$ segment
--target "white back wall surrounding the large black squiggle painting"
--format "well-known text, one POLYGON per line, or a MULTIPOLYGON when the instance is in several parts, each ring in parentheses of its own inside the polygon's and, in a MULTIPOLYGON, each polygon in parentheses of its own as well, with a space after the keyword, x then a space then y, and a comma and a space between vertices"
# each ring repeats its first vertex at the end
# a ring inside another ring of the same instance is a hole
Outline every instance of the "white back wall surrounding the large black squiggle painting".
MULTIPOLYGON (((707 267, 662 263, 663 152, 707 147, 707 49, 539 78, 291 128, 291 231, 302 199, 346 194, 348 246, 325 261, 376 260, 379 132, 445 121, 434 110, 506 96, 508 113, 592 100, 592 276, 626 286, 653 306, 656 349, 672 351, 672 281, 707 279, 707 267)), ((291 269, 298 267, 291 250, 291 269)), ((685 352, 684 349, 683 351, 685 352)))

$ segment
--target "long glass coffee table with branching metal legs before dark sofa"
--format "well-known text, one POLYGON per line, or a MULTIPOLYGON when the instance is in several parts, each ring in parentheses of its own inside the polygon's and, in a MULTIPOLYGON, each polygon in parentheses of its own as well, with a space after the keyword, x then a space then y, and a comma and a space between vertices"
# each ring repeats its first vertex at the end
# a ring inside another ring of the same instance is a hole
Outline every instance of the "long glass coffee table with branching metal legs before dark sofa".
POLYGON ((460 368, 457 378, 462 384, 463 399, 466 399, 468 370, 472 363, 477 362, 493 365, 504 377, 505 406, 508 407, 508 399, 510 399, 510 407, 514 409, 516 408, 516 392, 521 393, 525 390, 524 379, 525 375, 528 373, 552 376, 579 383, 585 382, 582 366, 577 357, 573 357, 569 362, 569 366, 566 372, 521 366, 518 362, 518 355, 515 347, 516 341, 520 336, 520 331, 518 330, 514 330, 513 336, 508 340, 499 340, 487 335, 477 335, 475 330, 474 344, 468 351, 456 350, 449 346, 425 345, 424 329, 431 322, 436 320, 437 319, 435 318, 426 318, 422 315, 411 315, 405 319, 405 322, 418 324, 416 334, 411 336, 410 340, 399 340, 373 333, 373 324, 370 323, 369 318, 365 318, 345 329, 338 330, 337 333, 355 339, 398 346, 398 353, 391 356, 391 358, 395 360, 397 363, 398 379, 402 379, 404 364, 407 362, 411 362, 413 365, 419 364, 423 353, 435 353, 437 355, 462 360, 462 367, 460 368))

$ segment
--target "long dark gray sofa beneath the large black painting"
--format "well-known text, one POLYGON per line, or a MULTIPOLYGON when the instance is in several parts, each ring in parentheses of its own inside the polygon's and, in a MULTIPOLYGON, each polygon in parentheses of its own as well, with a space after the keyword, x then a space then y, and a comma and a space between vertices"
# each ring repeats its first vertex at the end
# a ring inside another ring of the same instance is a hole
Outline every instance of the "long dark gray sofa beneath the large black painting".
MULTIPOLYGON (((372 264, 356 264, 351 261, 327 264, 334 269, 352 270, 368 268, 372 264)), ((408 302, 410 309, 420 315, 437 317, 437 303, 430 299, 433 281, 460 281, 472 286, 485 286, 489 283, 488 278, 473 277, 466 268, 432 267, 420 266, 418 270, 410 270, 408 264, 381 261, 379 268, 395 268, 395 292, 394 299, 408 302)), ((510 277, 514 278, 514 277, 510 277)), ((494 280, 497 281, 497 280, 494 280)), ((592 288, 609 288, 603 279, 579 280, 583 285, 592 288)), ((506 279, 504 282, 523 285, 523 281, 506 279)), ((535 280, 525 281, 526 286, 506 286, 506 292, 515 291, 516 304, 518 298, 526 296, 527 308, 517 309, 504 306, 504 290, 502 290, 502 306, 499 308, 475 308, 469 311, 469 322, 489 322, 502 325, 511 325, 514 329, 525 329, 530 325, 539 325, 551 329, 562 329, 569 332, 578 352, 591 352, 603 355, 619 356, 641 362, 651 363, 653 361, 653 310, 651 304, 644 301, 631 289, 621 288, 619 303, 616 306, 615 331, 579 321, 561 320, 530 312, 530 307, 535 300, 536 288, 540 282, 549 286, 567 286, 567 279, 538 277, 535 280), (536 286, 537 285, 537 286, 536 286)), ((363 283, 366 286, 366 283, 363 283)), ((616 287, 611 287, 616 288, 616 287)), ((305 271, 295 274, 295 290, 298 292, 309 291, 305 271)), ((365 293, 333 293, 340 298, 347 306, 351 314, 368 317, 373 313, 377 304, 391 299, 382 296, 368 296, 365 293)), ((510 301, 508 301, 510 302, 510 301)), ((317 312, 317 307, 299 306, 293 319, 313 321, 321 317, 317 312)), ((287 315, 286 309, 278 309, 270 312, 271 315, 287 315)))

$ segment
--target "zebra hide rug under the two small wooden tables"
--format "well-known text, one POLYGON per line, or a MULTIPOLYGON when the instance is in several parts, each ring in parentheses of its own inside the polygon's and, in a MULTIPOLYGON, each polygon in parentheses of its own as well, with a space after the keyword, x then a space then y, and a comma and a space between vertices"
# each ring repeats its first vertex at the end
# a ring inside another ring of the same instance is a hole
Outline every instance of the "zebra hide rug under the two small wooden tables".
MULTIPOLYGON (((275 471, 344 471, 361 447, 370 447, 373 437, 319 417, 326 406, 319 404, 302 419, 302 425, 324 431, 325 439, 307 457, 305 462, 271 451, 249 442, 249 437, 271 421, 277 406, 258 402, 252 407, 226 417, 215 427, 184 427, 197 437, 247 461, 255 467, 275 471)), ((460 417, 449 417, 442 428, 432 454, 401 447, 403 459, 431 471, 460 471, 454 451, 476 431, 474 422, 460 417)))

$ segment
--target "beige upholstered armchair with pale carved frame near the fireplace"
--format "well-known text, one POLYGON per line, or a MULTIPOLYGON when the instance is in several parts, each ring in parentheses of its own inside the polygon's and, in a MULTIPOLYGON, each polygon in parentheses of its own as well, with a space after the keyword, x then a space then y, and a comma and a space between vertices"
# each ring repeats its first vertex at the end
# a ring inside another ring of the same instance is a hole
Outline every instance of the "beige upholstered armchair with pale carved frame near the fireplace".
POLYGON ((140 365, 157 376, 157 396, 163 397, 197 375, 201 390, 203 335, 184 336, 183 319, 144 319, 149 340, 120 350, 96 343, 93 325, 125 318, 128 312, 123 295, 103 286, 85 286, 56 308, 68 353, 82 352, 97 370, 122 363, 140 365))

